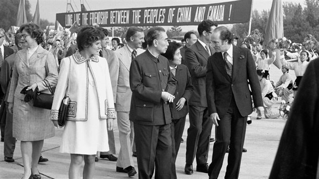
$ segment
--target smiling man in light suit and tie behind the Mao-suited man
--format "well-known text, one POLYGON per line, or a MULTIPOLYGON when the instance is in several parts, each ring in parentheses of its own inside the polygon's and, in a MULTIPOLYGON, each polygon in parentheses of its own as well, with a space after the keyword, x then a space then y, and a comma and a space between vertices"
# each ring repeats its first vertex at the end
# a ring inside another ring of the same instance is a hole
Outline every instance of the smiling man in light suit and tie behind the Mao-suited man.
POLYGON ((133 122, 129 119, 132 91, 130 89, 130 66, 132 60, 143 53, 143 29, 130 27, 126 33, 127 45, 115 51, 120 62, 119 78, 115 109, 118 117, 119 138, 121 149, 117 162, 117 171, 126 172, 129 176, 136 174, 132 157, 134 141, 133 122))

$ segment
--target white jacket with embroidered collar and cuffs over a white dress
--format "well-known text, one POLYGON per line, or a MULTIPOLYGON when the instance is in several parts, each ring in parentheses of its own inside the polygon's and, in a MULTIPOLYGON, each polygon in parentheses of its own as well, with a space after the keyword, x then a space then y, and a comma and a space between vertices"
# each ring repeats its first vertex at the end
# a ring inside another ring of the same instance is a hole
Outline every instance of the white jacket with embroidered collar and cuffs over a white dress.
POLYGON ((99 119, 115 118, 114 100, 108 62, 97 55, 85 60, 78 52, 64 58, 60 64, 58 84, 51 109, 51 120, 58 120, 58 113, 69 88, 69 109, 67 120, 86 121, 88 106, 88 85, 96 87, 99 119), (71 65, 71 66, 70 66, 71 65), (94 84, 89 84, 88 73, 92 73, 94 84), (70 79, 70 85, 69 84, 70 79))

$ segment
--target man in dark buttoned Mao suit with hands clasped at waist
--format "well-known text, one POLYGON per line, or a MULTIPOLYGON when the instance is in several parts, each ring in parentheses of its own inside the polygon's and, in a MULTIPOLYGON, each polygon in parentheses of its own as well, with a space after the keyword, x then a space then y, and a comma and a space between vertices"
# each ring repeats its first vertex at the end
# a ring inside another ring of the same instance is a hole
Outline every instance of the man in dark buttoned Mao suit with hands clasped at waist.
POLYGON ((134 122, 139 178, 171 178, 171 112, 177 82, 161 56, 168 42, 165 30, 153 27, 147 32, 148 49, 130 67, 132 90, 130 120, 134 122))

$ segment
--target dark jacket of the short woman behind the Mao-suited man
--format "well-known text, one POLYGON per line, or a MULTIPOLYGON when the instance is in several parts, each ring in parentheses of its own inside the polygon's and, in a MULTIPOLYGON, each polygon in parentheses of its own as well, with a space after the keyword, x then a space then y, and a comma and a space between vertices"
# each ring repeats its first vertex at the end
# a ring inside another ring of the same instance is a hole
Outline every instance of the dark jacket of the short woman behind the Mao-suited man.
POLYGON ((190 73, 185 65, 177 65, 175 79, 177 80, 176 91, 174 94, 175 99, 169 106, 171 108, 172 119, 179 119, 185 117, 188 113, 188 101, 194 87, 191 85, 190 73), (180 111, 177 111, 175 109, 176 103, 182 97, 186 99, 186 102, 184 107, 180 111))

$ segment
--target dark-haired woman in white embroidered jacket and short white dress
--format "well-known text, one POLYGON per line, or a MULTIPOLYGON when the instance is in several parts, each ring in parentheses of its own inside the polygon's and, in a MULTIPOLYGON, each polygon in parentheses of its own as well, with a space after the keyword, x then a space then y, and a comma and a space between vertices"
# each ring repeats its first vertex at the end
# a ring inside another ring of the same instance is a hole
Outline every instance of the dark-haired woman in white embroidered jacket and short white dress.
POLYGON ((58 127, 60 104, 68 95, 60 152, 71 155, 69 178, 80 178, 83 158, 83 178, 93 178, 96 151, 109 151, 107 129, 113 128, 115 108, 108 62, 98 56, 103 36, 86 27, 76 38, 79 51, 60 64, 50 118, 58 127))

